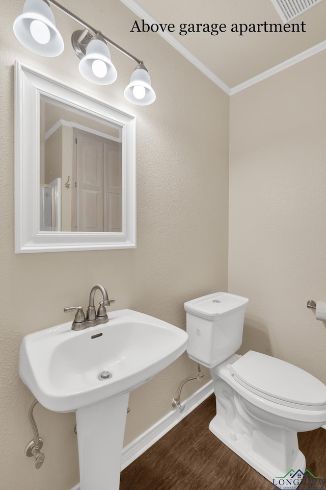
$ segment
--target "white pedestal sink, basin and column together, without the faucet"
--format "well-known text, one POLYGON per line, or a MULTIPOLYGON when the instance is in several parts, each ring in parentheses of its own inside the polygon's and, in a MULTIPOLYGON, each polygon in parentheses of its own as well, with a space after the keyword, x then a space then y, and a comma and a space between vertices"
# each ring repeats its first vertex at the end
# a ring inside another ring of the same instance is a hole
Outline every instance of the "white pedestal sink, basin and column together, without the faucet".
POLYGON ((85 330, 71 322, 26 335, 19 376, 49 410, 76 411, 80 490, 118 490, 131 390, 185 351, 183 330, 137 311, 110 312, 85 330))

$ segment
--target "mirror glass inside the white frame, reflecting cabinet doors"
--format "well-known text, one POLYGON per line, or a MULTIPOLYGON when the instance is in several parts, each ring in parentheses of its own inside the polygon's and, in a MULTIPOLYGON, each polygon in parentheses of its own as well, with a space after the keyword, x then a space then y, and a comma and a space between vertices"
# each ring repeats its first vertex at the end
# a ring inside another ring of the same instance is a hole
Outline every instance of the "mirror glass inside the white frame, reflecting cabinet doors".
POLYGON ((40 96, 40 231, 122 232, 122 128, 40 96))

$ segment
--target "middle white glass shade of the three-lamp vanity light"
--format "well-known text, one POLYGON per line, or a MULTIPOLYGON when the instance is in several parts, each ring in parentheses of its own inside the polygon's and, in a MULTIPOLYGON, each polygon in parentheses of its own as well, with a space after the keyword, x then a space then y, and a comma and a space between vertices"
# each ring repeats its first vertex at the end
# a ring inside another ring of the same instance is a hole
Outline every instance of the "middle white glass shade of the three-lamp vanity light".
POLYGON ((80 60, 79 71, 86 80, 99 85, 109 85, 115 82, 118 76, 111 61, 110 50, 100 39, 92 39, 89 42, 86 55, 80 60), (100 63, 95 63, 96 61, 100 63))

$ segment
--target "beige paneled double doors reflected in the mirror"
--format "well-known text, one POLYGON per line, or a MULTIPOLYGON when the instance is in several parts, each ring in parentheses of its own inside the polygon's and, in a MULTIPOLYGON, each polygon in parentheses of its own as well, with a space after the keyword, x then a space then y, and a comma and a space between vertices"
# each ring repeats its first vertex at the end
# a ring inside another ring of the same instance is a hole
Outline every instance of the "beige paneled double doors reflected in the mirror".
POLYGON ((121 144, 75 129, 72 229, 121 233, 121 144))

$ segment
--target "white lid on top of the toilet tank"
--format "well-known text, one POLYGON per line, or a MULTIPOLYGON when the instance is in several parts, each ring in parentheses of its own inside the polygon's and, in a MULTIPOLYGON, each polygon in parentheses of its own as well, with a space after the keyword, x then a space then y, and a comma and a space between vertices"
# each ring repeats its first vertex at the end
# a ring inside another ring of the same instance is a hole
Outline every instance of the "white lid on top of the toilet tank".
POLYGON ((213 320, 236 309, 245 308, 248 301, 248 298, 231 295, 229 292, 213 292, 211 295, 187 301, 184 309, 188 313, 213 320))

